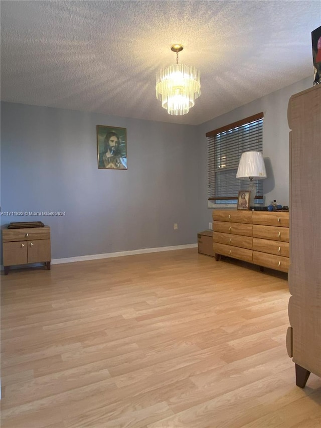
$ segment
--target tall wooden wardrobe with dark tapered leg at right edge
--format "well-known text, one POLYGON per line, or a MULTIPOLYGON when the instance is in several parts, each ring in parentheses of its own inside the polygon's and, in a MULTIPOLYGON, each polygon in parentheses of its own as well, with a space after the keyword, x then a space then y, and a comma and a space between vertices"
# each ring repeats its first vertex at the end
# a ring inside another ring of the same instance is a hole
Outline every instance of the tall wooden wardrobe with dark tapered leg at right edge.
POLYGON ((287 352, 296 384, 321 377, 321 85, 292 95, 288 104, 290 153, 291 297, 287 352))

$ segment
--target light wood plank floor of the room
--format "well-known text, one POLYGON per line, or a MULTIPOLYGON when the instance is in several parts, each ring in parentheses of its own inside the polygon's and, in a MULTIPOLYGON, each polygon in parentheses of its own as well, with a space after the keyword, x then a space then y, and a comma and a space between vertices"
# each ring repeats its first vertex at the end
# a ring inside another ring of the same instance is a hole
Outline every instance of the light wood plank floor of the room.
POLYGON ((316 428, 286 274, 196 248, 2 274, 2 428, 316 428))

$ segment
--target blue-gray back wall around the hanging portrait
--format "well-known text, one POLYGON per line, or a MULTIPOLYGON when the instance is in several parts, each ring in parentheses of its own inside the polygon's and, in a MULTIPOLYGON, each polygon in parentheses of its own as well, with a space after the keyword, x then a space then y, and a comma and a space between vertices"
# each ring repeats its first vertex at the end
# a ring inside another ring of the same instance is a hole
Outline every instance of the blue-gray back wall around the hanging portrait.
POLYGON ((196 243, 195 126, 6 102, 1 124, 2 212, 66 213, 1 222, 48 224, 53 259, 196 243), (98 169, 97 124, 127 128, 128 170, 98 169))

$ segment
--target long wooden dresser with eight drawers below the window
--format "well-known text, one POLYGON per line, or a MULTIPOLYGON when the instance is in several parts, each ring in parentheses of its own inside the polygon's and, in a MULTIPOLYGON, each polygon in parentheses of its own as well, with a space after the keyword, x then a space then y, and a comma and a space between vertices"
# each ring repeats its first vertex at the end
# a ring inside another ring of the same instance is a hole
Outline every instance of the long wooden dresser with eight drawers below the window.
POLYGON ((288 271, 289 213, 213 211, 213 249, 221 255, 288 271))

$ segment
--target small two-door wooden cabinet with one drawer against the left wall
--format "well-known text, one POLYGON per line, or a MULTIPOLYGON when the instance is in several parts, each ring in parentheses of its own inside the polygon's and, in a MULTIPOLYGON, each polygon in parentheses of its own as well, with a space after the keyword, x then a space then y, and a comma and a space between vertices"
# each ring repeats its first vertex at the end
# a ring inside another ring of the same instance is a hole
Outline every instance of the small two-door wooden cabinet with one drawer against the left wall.
POLYGON ((5 275, 17 264, 44 262, 50 270, 50 227, 3 229, 3 259, 5 275))

